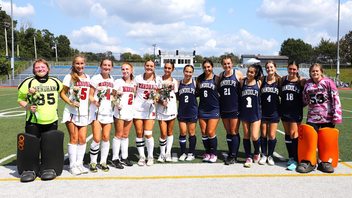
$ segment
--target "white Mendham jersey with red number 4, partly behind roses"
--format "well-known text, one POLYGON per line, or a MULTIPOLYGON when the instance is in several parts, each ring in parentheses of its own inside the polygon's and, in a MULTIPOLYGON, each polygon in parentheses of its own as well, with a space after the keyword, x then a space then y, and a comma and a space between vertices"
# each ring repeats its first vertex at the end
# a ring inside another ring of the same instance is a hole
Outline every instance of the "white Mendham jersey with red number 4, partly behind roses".
MULTIPOLYGON (((104 99, 101 101, 100 107, 99 107, 99 114, 102 115, 110 115, 113 113, 112 111, 112 95, 110 93, 112 92, 112 89, 114 87, 114 79, 112 76, 109 76, 108 79, 103 79, 101 74, 95 75, 90 79, 90 85, 95 88, 93 97, 96 101, 98 101, 98 90, 96 88, 102 87, 103 91, 107 89, 107 92, 105 94, 104 99)), ((98 107, 95 106, 95 104, 90 103, 89 109, 98 112, 98 107)))

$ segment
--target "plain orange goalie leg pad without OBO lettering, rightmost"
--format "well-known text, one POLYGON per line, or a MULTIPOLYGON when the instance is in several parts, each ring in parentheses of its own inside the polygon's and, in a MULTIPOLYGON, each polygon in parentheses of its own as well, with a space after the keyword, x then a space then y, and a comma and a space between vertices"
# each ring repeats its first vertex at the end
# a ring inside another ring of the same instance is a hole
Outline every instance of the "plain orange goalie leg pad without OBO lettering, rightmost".
POLYGON ((318 161, 330 162, 332 167, 337 167, 339 162, 339 130, 322 128, 318 131, 318 161))

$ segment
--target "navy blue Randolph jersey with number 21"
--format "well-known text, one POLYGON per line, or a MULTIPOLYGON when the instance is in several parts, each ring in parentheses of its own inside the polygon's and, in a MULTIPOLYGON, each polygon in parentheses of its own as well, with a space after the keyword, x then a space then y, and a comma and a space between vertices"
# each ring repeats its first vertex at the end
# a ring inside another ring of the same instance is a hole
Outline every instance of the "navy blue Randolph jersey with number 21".
POLYGON ((240 88, 239 82, 235 75, 235 69, 231 76, 225 77, 225 71, 220 79, 220 111, 234 112, 238 111, 240 88))

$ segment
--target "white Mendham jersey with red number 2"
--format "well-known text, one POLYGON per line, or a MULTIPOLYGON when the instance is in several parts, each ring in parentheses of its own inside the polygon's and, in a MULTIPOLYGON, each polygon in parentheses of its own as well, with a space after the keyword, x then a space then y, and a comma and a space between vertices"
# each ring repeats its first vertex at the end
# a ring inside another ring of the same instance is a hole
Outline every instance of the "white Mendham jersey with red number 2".
MULTIPOLYGON (((120 110, 120 115, 125 119, 133 118, 133 101, 134 101, 134 84, 127 83, 124 79, 119 78, 114 82, 114 90, 117 92, 122 92, 121 101, 117 101, 122 109, 120 110)), ((114 116, 119 118, 119 110, 114 107, 114 116)))

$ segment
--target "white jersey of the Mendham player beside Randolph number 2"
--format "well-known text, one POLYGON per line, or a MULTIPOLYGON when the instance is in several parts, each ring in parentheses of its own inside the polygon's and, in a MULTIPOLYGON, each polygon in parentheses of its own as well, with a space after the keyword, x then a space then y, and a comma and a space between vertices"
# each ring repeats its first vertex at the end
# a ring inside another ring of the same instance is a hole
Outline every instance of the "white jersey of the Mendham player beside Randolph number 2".
MULTIPOLYGON (((163 77, 162 77, 163 78, 163 77)), ((177 87, 177 81, 173 78, 171 78, 172 81, 164 81, 164 79, 162 79, 162 85, 164 83, 166 84, 171 84, 174 83, 174 89, 170 92, 170 98, 167 100, 168 102, 168 109, 166 110, 166 112, 164 111, 164 106, 161 104, 158 104, 157 107, 157 111, 159 113, 162 113, 164 115, 174 115, 177 114, 177 103, 176 103, 176 92, 178 92, 178 87, 177 87), (171 98, 172 96, 172 98, 171 98)), ((163 97, 162 95, 160 96, 159 100, 165 101, 165 97, 163 97)))

